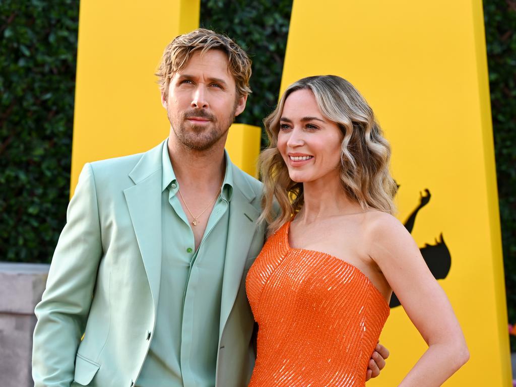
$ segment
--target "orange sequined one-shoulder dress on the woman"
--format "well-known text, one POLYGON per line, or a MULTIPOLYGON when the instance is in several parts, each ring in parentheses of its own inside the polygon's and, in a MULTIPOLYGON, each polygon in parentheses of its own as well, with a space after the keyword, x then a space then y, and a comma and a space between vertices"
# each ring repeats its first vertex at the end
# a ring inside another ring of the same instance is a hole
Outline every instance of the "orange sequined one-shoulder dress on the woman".
POLYGON ((289 225, 267 240, 246 279, 259 327, 249 387, 363 387, 389 305, 357 267, 291 248, 289 225))

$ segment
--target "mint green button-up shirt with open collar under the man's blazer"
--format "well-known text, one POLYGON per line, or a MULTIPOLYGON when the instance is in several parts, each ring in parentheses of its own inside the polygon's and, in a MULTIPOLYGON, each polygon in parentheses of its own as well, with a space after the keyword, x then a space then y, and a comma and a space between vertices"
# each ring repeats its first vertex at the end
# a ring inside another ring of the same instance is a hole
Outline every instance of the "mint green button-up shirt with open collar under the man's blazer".
POLYGON ((154 336, 136 385, 213 387, 233 176, 228 154, 221 193, 199 249, 163 147, 162 271, 154 336))

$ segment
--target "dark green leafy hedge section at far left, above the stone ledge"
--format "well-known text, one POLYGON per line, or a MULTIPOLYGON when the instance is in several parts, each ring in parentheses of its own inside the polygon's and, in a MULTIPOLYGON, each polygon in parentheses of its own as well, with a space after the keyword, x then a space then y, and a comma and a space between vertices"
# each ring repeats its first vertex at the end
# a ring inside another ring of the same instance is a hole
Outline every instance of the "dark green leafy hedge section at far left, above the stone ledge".
POLYGON ((66 221, 77 18, 77 1, 0 1, 0 260, 49 262, 66 221))

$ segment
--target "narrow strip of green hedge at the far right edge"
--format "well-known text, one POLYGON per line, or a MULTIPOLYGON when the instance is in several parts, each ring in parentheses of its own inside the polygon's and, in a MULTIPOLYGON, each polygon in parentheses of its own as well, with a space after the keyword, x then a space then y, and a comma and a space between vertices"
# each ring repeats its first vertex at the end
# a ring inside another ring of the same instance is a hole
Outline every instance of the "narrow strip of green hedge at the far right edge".
MULTIPOLYGON (((509 322, 516 323, 516 2, 484 2, 509 322)), ((516 337, 511 336, 516 351, 516 337)))

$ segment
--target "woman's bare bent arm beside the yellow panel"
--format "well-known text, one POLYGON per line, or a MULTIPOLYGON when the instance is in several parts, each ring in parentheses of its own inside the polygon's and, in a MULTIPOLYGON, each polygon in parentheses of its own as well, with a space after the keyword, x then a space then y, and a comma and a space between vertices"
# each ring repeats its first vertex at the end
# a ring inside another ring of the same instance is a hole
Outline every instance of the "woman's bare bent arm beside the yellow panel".
POLYGON ((440 386, 469 359, 451 304, 414 239, 396 218, 379 214, 368 228, 367 239, 369 256, 428 344, 426 352, 399 385, 440 386))

